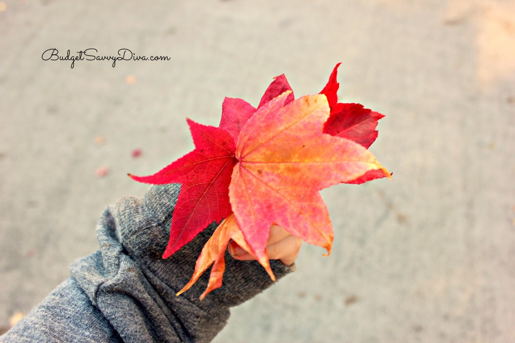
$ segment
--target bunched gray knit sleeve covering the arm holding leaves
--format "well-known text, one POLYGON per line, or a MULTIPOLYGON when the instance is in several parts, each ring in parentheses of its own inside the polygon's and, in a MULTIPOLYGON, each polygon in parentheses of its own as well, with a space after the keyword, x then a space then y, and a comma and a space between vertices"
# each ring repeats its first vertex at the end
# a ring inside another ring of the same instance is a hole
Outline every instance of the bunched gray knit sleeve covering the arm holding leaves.
MULTIPOLYGON (((143 200, 127 197, 99 219, 100 250, 71 267, 60 285, 0 341, 207 342, 224 328, 229 307, 272 282, 255 261, 226 253, 224 284, 204 300, 209 270, 183 295, 195 261, 215 225, 163 260, 180 185, 150 188, 143 200)), ((295 267, 270 261, 279 279, 295 267)))

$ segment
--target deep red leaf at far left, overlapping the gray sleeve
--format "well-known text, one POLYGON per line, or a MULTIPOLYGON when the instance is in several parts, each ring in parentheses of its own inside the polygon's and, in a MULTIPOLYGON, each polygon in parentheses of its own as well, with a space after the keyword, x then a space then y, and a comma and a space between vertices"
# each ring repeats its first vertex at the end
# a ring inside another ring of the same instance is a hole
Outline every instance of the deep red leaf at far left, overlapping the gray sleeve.
POLYGON ((158 173, 132 179, 145 183, 181 183, 174 210, 170 238, 163 259, 190 242, 211 222, 220 222, 231 213, 228 186, 235 163, 235 144, 220 128, 188 119, 195 150, 158 173))

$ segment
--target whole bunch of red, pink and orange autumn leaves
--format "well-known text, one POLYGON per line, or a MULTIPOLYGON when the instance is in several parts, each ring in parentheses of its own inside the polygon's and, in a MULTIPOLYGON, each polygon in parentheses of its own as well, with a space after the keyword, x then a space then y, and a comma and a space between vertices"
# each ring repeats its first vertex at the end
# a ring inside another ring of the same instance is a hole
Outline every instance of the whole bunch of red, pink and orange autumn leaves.
POLYGON ((331 252, 333 229, 319 191, 338 183, 390 177, 368 147, 382 114, 338 102, 337 68, 318 95, 295 100, 284 75, 274 78, 258 108, 225 98, 219 127, 187 119, 195 149, 158 173, 151 184, 181 183, 163 259, 211 222, 220 223, 205 243, 190 288, 211 265, 208 287, 222 285, 227 245, 235 241, 275 280, 266 252, 270 226, 331 252))

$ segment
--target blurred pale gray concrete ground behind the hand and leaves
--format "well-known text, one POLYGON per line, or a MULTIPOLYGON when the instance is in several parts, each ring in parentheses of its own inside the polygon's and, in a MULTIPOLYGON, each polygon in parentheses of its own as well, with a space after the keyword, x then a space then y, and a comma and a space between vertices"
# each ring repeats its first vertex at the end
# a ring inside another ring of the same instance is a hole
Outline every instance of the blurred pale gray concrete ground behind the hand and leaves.
POLYGON ((256 105, 282 73, 317 93, 341 61, 340 98, 386 114, 371 150, 394 181, 324 191, 331 256, 304 245, 215 341, 515 341, 512 0, 6 1, 0 61, 2 327, 96 250, 107 204, 145 193, 127 172, 191 150, 186 116, 217 125, 224 96, 256 105))

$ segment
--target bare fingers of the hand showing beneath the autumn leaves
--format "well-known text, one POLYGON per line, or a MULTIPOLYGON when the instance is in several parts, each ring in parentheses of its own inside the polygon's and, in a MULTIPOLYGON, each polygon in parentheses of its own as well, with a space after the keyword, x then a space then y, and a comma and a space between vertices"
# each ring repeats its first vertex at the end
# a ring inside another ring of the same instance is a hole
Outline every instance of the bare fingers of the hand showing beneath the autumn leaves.
MULTIPOLYGON (((280 226, 272 225, 270 237, 268 238, 266 252, 270 260, 279 260, 286 266, 291 266, 302 246, 302 239, 292 236, 280 226)), ((229 253, 233 258, 240 261, 255 260, 254 256, 245 251, 236 242, 229 243, 229 253)))

